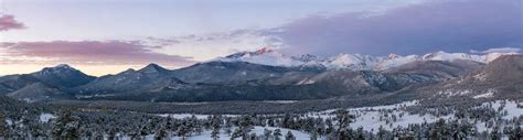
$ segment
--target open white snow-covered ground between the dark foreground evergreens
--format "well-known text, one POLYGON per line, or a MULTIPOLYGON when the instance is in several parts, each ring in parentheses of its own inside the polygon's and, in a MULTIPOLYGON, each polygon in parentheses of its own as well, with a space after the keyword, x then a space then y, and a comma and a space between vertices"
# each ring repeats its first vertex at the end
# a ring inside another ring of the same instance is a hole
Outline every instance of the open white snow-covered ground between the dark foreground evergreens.
MULTIPOLYGON (((416 115, 416 114, 408 114, 405 111, 406 107, 416 106, 419 103, 417 100, 413 100, 413 101, 405 101, 401 104, 386 105, 386 106, 346 108, 346 110, 349 110, 350 114, 355 116, 354 121, 350 125, 351 128, 357 129, 361 127, 364 130, 371 131, 371 132, 377 132, 380 127, 383 127, 386 130, 392 130, 398 127, 406 128, 409 125, 414 125, 414 123, 424 123, 424 122, 430 123, 439 119, 445 119, 445 120, 455 119, 453 115, 436 117, 429 114, 416 115)), ((491 101, 491 103, 484 103, 481 105, 481 107, 490 107, 492 109, 495 109, 500 115, 503 115, 501 119, 510 120, 510 119, 523 116, 523 108, 519 107, 521 105, 522 103, 517 103, 517 101, 497 100, 497 101, 491 101)), ((306 117, 334 119, 335 115, 332 114, 334 111, 335 109, 324 110, 324 111, 319 111, 319 112, 308 112, 306 117)), ((178 119, 190 118, 192 116, 196 117, 198 119, 209 118, 209 115, 191 115, 191 114, 175 114, 175 115, 167 114, 167 115, 158 115, 158 116, 172 117, 172 118, 178 118, 178 119)), ((239 115, 224 115, 224 116, 239 117, 239 115)), ((39 119, 41 122, 49 122, 51 119, 54 119, 54 118, 56 118, 56 116, 52 114, 41 114, 39 116, 39 119)), ((18 121, 13 122, 10 119, 7 119, 4 121, 7 121, 8 125, 18 123, 18 121)), ((474 120, 468 120, 468 121, 474 122, 474 120)), ((492 128, 488 128, 485 126, 488 126, 487 122, 482 122, 482 121, 477 121, 476 123, 476 128, 479 132, 492 130, 492 128)), ((235 128, 232 128, 232 129, 234 130, 235 128)), ((290 131, 297 138, 297 140, 310 139, 310 134, 307 132, 302 132, 299 130, 290 130, 290 129, 285 129, 285 128, 274 128, 274 127, 256 126, 254 127, 250 133, 256 133, 256 136, 263 136, 264 129, 268 129, 270 131, 274 131, 275 129, 280 129, 281 134, 282 134, 281 138, 284 138, 285 134, 288 131, 290 131)), ((127 138, 124 138, 124 139, 127 139, 127 138)), ((152 140, 153 136, 148 136, 147 139, 152 140)), ((181 138, 172 137, 171 139, 179 140, 181 138)), ((209 139, 212 139, 210 130, 203 131, 200 134, 193 133, 192 136, 188 137, 188 140, 209 140, 209 139)), ((230 140, 230 139, 231 139, 231 136, 226 134, 222 130, 220 134, 220 140, 230 140)), ((319 138, 319 140, 322 140, 322 138, 319 138)))

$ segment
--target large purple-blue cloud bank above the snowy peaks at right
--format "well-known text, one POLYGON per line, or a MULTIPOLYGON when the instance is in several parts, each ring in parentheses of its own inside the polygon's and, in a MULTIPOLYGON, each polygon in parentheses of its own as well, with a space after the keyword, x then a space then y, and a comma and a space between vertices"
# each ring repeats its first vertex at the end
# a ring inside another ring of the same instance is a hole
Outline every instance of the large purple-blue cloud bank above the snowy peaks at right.
POLYGON ((427 1, 382 13, 310 15, 266 35, 281 39, 287 53, 412 54, 468 52, 490 46, 523 47, 519 0, 427 1))

